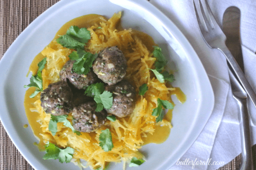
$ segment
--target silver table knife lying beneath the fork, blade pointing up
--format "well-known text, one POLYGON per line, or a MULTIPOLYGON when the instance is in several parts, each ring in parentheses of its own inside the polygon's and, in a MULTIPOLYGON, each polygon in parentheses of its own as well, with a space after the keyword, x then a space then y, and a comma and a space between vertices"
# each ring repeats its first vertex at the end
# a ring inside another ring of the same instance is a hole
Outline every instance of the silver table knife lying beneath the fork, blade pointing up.
MULTIPOLYGON (((240 9, 231 6, 228 7, 223 15, 222 20, 222 30, 227 37, 226 45, 240 66, 241 70, 244 72, 244 63, 241 50, 241 40, 240 40, 240 9)), ((239 120, 240 120, 240 133, 241 133, 241 153, 242 162, 239 170, 253 170, 253 157, 252 148, 250 141, 250 122, 249 114, 247 109, 247 93, 241 86, 234 72, 229 66, 229 78, 232 88, 232 94, 234 99, 237 101, 239 106, 239 120)))

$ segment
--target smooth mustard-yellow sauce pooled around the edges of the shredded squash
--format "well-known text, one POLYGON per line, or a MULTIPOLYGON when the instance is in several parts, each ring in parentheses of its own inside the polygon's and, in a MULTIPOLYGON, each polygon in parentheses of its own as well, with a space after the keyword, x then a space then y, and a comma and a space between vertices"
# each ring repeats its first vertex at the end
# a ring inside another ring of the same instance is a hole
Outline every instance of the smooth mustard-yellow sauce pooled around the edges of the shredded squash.
MULTIPOLYGON (((68 30, 68 28, 72 25, 76 25, 78 27, 90 27, 93 24, 99 23, 102 20, 107 20, 107 19, 104 18, 102 15, 96 15, 96 14, 84 15, 84 16, 75 18, 71 21, 68 21, 66 24, 64 24, 60 28, 60 30, 56 33, 56 36, 54 37, 54 39, 57 39, 59 37, 59 35, 64 35, 66 33, 66 31, 68 30)), ((120 28, 120 26, 119 26, 119 28, 120 28)), ((134 30, 134 33, 136 33, 136 36, 138 36, 140 39, 142 39, 142 41, 145 43, 145 45, 147 46, 147 48, 150 51, 153 51, 152 46, 155 44, 154 44, 153 39, 150 36, 148 36, 145 33, 135 31, 135 30, 134 30)), ((32 72, 32 74, 35 75, 38 70, 37 64, 43 58, 44 58, 44 56, 41 53, 38 54, 34 58, 33 62, 31 63, 31 66, 29 67, 29 72, 32 72)), ((37 114, 37 112, 32 112, 30 110, 31 108, 34 107, 33 103, 40 98, 40 95, 37 95, 34 98, 29 97, 34 92, 34 90, 35 90, 35 88, 31 87, 26 91, 24 106, 25 106, 25 112, 26 112, 26 115, 28 118, 28 123, 31 126, 32 131, 34 132, 34 135, 40 141, 38 144, 35 144, 35 145, 37 145, 39 147, 39 149, 41 150, 41 149, 43 149, 44 143, 43 143, 42 136, 40 135, 40 133, 42 133, 40 124, 37 122, 38 114, 37 114)), ((171 95, 176 95, 177 98, 179 99, 179 101, 181 101, 182 103, 185 102, 185 100, 186 100, 185 94, 179 88, 176 88, 176 90, 171 91, 171 95)), ((167 112, 165 119, 167 119, 168 121, 171 122, 172 110, 169 110, 167 112)), ((144 141, 144 144, 163 143, 165 140, 167 140, 167 138, 169 137, 169 134, 170 134, 170 128, 168 126, 157 126, 153 135, 148 134, 148 137, 143 138, 143 141, 144 141)))

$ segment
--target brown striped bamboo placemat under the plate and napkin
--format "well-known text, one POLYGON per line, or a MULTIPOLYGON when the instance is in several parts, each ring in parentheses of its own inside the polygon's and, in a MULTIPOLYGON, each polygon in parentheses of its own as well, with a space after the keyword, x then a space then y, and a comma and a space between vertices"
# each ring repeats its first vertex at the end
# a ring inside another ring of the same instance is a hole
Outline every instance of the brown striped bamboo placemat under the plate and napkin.
MULTIPOLYGON (((19 34, 59 0, 0 0, 0 59, 19 34)), ((253 146, 253 157, 256 149, 253 146)), ((237 170, 241 155, 218 170, 237 170)), ((22 157, 0 122, 0 170, 34 170, 22 157)))

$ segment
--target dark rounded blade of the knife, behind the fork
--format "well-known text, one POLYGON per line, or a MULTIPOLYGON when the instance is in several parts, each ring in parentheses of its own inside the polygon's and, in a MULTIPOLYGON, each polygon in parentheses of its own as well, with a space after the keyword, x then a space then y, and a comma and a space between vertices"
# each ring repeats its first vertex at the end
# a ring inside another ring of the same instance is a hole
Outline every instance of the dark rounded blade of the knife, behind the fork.
POLYGON ((235 6, 228 7, 222 19, 222 31, 227 37, 226 46, 228 47, 237 64, 244 72, 244 62, 242 56, 240 39, 240 9, 235 6))

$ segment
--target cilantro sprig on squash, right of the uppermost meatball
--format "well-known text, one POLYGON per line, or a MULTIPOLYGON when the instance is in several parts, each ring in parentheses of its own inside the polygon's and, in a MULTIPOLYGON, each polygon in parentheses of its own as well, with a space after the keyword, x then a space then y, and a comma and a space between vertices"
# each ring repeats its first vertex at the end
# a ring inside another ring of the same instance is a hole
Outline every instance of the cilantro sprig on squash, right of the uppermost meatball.
POLYGON ((160 47, 154 46, 153 56, 156 57, 156 62, 154 63, 155 69, 150 69, 154 72, 157 80, 160 83, 164 83, 164 81, 173 82, 174 76, 173 74, 169 74, 167 71, 163 71, 163 68, 167 64, 166 57, 163 56, 162 49, 160 47))

